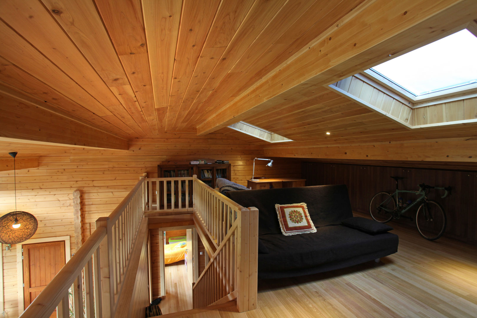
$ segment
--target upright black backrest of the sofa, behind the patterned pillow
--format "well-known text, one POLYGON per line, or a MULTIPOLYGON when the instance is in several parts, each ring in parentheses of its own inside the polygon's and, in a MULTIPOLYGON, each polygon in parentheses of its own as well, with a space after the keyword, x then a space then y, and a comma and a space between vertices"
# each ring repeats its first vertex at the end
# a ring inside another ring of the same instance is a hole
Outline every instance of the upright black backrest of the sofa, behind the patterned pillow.
POLYGON ((280 234, 280 224, 275 211, 276 204, 304 202, 315 227, 341 225, 341 221, 353 216, 346 185, 317 185, 297 188, 229 191, 233 201, 245 207, 259 209, 259 234, 280 234))

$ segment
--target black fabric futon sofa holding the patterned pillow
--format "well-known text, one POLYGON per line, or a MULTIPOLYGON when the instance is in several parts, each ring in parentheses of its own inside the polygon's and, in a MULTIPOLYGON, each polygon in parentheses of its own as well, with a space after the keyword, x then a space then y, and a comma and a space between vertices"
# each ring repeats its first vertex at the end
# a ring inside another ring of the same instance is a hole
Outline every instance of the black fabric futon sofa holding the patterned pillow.
MULTIPOLYGON (((397 235, 370 234, 342 224, 358 219, 353 218, 346 185, 229 191, 226 195, 239 205, 259 209, 259 278, 315 274, 397 252, 397 235), (316 233, 282 235, 275 204, 301 202, 307 204, 316 233)), ((358 221, 385 227, 372 220, 358 221)))

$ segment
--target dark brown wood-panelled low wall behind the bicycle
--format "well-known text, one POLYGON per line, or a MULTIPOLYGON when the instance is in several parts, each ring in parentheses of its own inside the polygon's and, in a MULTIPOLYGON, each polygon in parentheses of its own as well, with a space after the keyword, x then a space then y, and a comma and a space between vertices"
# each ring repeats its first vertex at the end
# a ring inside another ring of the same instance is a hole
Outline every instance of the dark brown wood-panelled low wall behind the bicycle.
MULTIPOLYGON (((390 163, 389 163, 390 164, 390 163)), ((391 164, 390 164, 391 165, 391 164)), ((306 185, 345 184, 348 186, 353 211, 369 214, 369 202, 379 191, 395 190, 394 180, 389 176, 402 176, 399 188, 418 190, 418 184, 452 186, 452 195, 441 198, 443 191, 431 191, 429 198, 441 203, 447 214, 445 236, 477 243, 477 172, 405 168, 392 166, 373 166, 358 164, 336 164, 323 162, 303 162, 302 177, 306 185)), ((413 199, 412 195, 404 197, 413 199)), ((405 226, 415 227, 407 219, 391 221, 405 226)))

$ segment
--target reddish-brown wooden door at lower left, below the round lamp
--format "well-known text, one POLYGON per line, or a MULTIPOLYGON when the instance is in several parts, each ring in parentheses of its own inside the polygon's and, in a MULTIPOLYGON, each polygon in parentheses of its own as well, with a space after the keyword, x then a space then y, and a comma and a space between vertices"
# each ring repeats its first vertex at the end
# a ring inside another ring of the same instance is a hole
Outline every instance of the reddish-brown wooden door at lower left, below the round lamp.
MULTIPOLYGON (((40 295, 65 264, 64 241, 23 245, 25 308, 40 295)), ((52 317, 56 317, 56 311, 52 317)))

